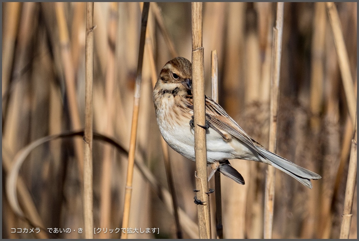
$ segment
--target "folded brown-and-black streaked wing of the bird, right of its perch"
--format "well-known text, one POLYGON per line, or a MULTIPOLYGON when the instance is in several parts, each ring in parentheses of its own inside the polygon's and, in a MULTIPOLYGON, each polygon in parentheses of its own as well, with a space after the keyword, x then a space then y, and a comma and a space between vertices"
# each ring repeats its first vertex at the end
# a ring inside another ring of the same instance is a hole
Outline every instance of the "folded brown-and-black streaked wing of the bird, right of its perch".
POLYGON ((206 119, 217 129, 224 131, 257 151, 252 138, 213 99, 206 96, 206 119))

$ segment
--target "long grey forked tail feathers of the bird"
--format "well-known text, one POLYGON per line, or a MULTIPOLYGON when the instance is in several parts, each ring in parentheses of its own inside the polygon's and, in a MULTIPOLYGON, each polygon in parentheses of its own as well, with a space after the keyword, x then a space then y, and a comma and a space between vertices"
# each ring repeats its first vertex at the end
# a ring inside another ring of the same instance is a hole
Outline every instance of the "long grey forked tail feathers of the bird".
POLYGON ((290 162, 287 159, 280 157, 275 153, 270 152, 265 148, 257 147, 257 149, 266 159, 268 159, 271 162, 272 166, 294 177, 295 179, 297 179, 299 182, 309 187, 310 189, 312 188, 312 183, 310 179, 317 180, 322 178, 317 173, 314 173, 303 167, 300 167, 294 164, 293 162, 290 162))

